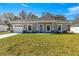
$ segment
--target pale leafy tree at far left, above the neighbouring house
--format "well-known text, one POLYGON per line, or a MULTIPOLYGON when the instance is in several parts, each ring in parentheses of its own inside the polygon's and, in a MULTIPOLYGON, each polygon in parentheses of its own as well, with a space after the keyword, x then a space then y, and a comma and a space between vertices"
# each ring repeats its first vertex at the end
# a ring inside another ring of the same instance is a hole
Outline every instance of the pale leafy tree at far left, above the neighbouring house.
POLYGON ((15 16, 13 13, 4 13, 0 16, 0 19, 6 24, 8 25, 9 29, 11 27, 10 21, 14 21, 17 20, 18 17, 15 16))

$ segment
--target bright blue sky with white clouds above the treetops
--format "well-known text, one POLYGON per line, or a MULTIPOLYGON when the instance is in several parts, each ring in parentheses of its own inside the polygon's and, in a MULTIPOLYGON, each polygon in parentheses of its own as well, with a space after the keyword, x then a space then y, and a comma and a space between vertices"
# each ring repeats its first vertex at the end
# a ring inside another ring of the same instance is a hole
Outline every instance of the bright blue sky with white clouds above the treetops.
POLYGON ((78 3, 0 3, 0 14, 11 12, 18 15, 22 9, 26 13, 33 12, 38 16, 43 12, 64 15, 68 20, 79 14, 78 3))

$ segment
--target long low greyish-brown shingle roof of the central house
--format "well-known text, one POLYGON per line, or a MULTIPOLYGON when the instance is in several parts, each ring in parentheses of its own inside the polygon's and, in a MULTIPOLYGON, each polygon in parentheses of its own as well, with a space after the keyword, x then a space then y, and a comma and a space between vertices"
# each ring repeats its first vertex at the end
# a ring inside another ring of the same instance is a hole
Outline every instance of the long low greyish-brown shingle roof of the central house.
POLYGON ((16 21, 11 21, 11 23, 26 23, 26 22, 60 22, 60 23, 68 23, 65 20, 55 20, 55 19, 45 19, 45 18, 32 18, 32 19, 21 19, 16 21))

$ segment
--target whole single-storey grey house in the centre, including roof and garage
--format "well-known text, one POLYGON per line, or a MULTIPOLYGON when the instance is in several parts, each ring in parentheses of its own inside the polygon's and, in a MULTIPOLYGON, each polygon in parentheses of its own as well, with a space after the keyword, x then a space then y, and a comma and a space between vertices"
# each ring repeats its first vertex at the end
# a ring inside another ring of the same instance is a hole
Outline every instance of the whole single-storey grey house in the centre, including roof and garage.
POLYGON ((69 29, 69 22, 65 20, 55 20, 46 18, 33 18, 11 21, 12 32, 17 33, 55 33, 65 32, 69 29))

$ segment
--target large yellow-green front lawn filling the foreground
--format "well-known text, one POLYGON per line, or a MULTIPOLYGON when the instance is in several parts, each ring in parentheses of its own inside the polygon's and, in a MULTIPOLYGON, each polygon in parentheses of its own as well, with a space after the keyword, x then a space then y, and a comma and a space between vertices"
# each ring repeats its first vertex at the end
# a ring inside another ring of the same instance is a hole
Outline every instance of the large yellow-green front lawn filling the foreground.
POLYGON ((4 56, 79 56, 79 34, 19 34, 0 40, 4 56))

